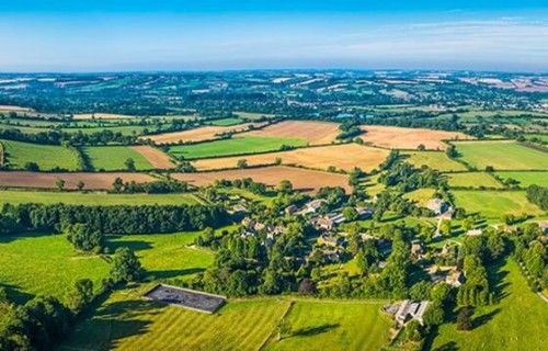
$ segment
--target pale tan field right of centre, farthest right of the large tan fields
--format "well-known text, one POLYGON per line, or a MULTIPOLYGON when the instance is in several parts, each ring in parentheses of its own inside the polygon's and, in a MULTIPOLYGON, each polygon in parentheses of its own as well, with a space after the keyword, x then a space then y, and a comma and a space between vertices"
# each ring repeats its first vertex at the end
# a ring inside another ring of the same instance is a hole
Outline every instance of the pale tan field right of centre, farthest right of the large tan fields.
POLYGON ((445 150, 447 145, 442 140, 472 139, 472 137, 459 132, 374 125, 362 126, 362 129, 366 132, 362 136, 365 143, 391 149, 416 149, 422 144, 426 149, 445 150))

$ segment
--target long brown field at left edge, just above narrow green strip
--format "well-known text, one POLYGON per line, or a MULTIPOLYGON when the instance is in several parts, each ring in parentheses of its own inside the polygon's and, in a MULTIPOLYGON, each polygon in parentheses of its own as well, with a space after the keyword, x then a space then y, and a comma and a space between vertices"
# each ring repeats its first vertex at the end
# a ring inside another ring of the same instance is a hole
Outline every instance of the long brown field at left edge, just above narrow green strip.
POLYGON ((57 179, 65 181, 65 189, 76 189, 77 183, 85 183, 87 190, 110 190, 119 177, 124 182, 138 183, 155 181, 155 178, 142 173, 39 173, 39 172, 0 172, 0 186, 55 189, 57 179))

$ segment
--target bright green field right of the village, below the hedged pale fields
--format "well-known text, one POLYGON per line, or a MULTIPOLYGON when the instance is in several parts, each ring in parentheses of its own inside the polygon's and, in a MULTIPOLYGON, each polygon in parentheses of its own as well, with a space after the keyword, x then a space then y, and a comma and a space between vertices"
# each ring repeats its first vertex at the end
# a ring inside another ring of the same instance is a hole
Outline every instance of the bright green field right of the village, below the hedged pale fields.
POLYGON ((544 212, 529 203, 524 191, 454 190, 455 203, 467 213, 480 213, 487 218, 500 219, 503 214, 523 213, 541 216, 544 212))

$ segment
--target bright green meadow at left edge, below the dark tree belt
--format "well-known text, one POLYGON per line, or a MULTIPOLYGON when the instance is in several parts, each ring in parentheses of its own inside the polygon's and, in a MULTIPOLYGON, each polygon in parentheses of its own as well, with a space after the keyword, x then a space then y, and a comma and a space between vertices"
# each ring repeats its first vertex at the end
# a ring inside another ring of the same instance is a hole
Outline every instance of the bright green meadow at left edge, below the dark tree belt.
POLYGON ((110 270, 99 256, 77 253, 64 235, 31 234, 0 236, 0 285, 21 303, 38 294, 62 299, 79 279, 99 286, 110 270))

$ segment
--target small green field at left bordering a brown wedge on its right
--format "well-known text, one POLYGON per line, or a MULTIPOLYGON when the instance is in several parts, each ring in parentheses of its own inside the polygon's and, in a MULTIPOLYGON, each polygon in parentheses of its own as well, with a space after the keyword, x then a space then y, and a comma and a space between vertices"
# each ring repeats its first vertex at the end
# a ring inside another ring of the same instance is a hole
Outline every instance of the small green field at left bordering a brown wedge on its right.
POLYGON ((153 168, 142 155, 127 146, 90 146, 83 147, 82 151, 88 155, 91 166, 95 170, 125 170, 124 163, 128 158, 135 161, 137 170, 153 168))

